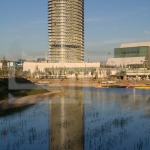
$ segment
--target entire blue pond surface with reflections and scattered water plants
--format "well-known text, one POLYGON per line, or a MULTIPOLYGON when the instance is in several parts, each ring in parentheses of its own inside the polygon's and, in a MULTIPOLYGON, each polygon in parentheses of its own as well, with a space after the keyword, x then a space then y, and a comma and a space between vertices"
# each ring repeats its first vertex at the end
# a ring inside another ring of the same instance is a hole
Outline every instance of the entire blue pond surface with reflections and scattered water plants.
POLYGON ((1 150, 149 150, 150 94, 141 89, 66 88, 0 117, 1 150))

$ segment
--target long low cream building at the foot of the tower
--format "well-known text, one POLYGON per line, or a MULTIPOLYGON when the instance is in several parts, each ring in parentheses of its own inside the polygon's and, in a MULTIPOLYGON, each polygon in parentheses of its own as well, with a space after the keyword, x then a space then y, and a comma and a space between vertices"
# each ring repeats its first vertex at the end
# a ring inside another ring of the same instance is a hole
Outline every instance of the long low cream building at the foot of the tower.
POLYGON ((83 63, 45 63, 45 62, 24 62, 23 71, 28 71, 34 76, 47 75, 54 78, 67 75, 68 78, 76 76, 89 77, 98 74, 100 62, 83 63))

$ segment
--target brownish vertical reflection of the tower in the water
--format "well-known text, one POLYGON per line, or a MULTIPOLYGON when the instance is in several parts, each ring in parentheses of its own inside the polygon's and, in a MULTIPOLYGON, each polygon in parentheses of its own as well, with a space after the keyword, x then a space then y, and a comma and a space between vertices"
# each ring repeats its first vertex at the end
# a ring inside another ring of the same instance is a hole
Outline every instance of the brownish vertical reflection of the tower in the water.
POLYGON ((66 97, 50 101, 50 149, 83 150, 83 91, 67 89, 66 97))

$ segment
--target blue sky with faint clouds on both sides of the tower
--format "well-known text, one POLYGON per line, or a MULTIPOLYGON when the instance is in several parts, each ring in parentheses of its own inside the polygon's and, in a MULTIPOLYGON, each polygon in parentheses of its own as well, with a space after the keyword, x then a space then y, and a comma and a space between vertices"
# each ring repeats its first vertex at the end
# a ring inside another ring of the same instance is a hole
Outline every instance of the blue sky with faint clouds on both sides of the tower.
MULTIPOLYGON (((44 57, 47 2, 0 0, 0 59, 44 57)), ((85 60, 87 50, 99 61, 121 43, 150 41, 150 0, 85 0, 84 6, 85 60)))

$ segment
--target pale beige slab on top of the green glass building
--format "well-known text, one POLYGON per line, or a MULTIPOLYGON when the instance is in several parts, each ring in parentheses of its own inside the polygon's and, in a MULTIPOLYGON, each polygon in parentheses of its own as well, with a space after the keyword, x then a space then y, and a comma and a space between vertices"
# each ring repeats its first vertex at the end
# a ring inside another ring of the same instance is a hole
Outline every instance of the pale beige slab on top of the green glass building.
POLYGON ((139 47, 139 46, 149 46, 150 47, 150 42, 126 43, 126 44, 121 44, 120 48, 139 47))

